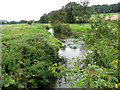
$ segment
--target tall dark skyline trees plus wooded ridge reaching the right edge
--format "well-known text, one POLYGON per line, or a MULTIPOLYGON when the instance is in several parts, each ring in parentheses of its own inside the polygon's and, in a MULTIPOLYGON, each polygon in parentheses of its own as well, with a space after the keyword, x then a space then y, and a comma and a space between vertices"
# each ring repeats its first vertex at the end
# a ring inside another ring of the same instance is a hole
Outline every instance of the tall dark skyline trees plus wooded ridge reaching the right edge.
MULTIPOLYGON (((93 5, 91 7, 87 6, 89 2, 81 2, 81 3, 76 3, 76 2, 70 2, 64 7, 62 7, 60 10, 52 11, 48 14, 44 14, 43 16, 40 17, 39 22, 40 23, 49 23, 51 14, 56 12, 61 13, 61 10, 63 13, 66 15, 66 20, 64 21, 65 23, 83 23, 85 22, 86 15, 87 17, 90 17, 91 14, 96 13, 116 13, 120 12, 118 9, 119 3, 118 4, 111 4, 111 5, 93 5)), ((55 17, 54 17, 55 18, 55 17)))

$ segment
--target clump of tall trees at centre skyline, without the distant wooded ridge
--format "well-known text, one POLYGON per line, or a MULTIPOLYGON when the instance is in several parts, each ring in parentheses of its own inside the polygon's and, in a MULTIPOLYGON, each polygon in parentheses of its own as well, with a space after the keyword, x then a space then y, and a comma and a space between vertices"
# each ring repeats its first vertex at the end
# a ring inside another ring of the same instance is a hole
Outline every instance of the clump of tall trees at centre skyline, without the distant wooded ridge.
POLYGON ((56 20, 63 23, 80 23, 85 22, 85 18, 90 17, 89 2, 69 2, 61 9, 44 14, 40 18, 40 23, 49 23, 56 20))

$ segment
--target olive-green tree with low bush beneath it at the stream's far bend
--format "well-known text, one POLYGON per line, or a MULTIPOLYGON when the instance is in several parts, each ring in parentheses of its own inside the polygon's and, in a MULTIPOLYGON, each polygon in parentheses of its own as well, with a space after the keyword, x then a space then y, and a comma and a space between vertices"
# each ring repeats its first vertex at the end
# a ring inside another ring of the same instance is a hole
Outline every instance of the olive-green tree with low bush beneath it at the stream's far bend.
POLYGON ((50 13, 49 20, 55 33, 69 34, 71 32, 69 24, 64 24, 66 21, 66 15, 67 13, 64 7, 50 13))

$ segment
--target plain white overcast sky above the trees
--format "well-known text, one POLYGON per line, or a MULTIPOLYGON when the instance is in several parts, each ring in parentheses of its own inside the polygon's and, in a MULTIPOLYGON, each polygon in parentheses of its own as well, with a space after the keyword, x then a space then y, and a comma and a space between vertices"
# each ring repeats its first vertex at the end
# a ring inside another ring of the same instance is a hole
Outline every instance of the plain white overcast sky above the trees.
MULTIPOLYGON (((58 10, 69 2, 81 0, 1 0, 0 20, 39 20, 44 13, 58 10)), ((91 5, 115 4, 120 0, 90 0, 91 5)))

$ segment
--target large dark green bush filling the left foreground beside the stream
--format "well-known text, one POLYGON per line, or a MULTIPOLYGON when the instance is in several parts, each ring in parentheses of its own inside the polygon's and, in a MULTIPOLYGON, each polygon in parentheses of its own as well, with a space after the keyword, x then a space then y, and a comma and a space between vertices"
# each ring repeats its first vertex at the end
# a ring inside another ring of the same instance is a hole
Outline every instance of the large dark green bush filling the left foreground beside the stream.
POLYGON ((3 47, 3 87, 30 89, 46 85, 52 75, 48 67, 59 61, 58 46, 58 40, 42 34, 11 40, 8 47, 3 47))

